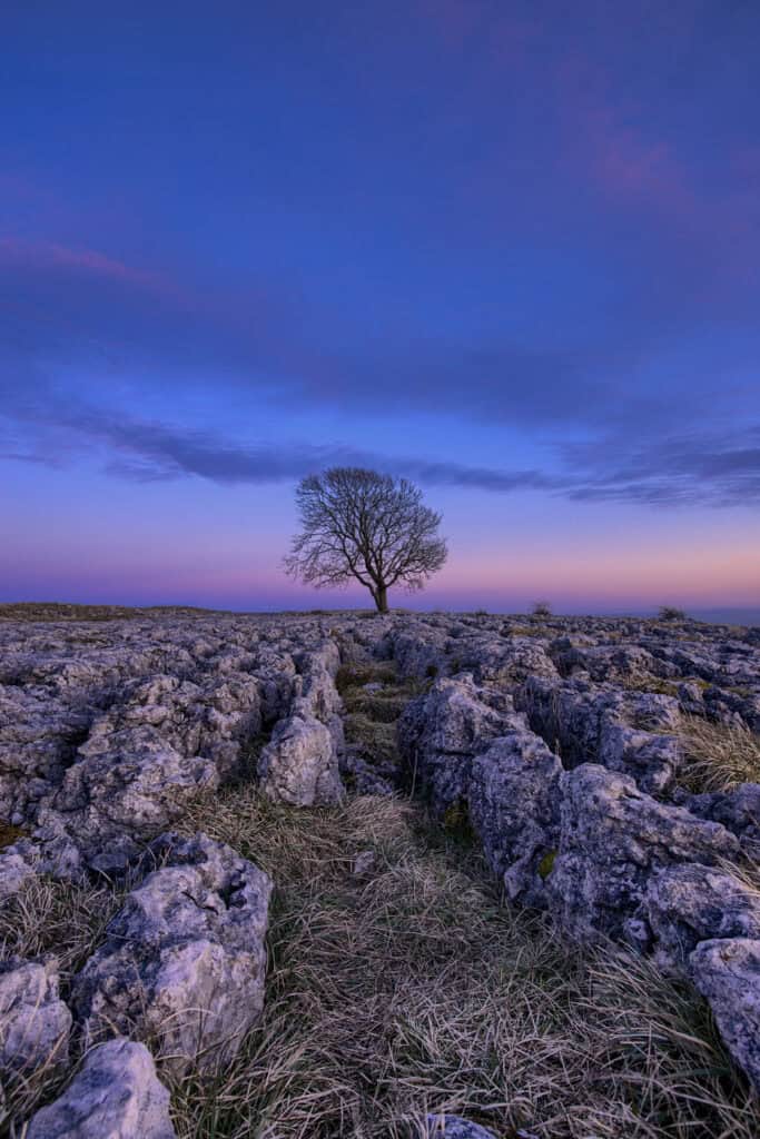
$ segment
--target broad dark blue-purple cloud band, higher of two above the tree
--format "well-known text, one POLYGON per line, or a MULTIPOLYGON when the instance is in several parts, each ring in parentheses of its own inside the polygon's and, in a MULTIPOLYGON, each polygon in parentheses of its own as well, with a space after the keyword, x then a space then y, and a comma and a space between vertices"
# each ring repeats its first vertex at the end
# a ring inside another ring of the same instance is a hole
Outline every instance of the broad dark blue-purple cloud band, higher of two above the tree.
MULTIPOLYGON (((622 420, 652 431, 673 417, 662 384, 641 376, 660 347, 648 312, 646 329, 627 310, 586 337, 550 331, 531 343, 407 328, 359 337, 353 349, 342 310, 281 285, 201 290, 101 251, 16 239, 0 240, 0 335, 17 364, 44 359, 113 377, 158 374, 165 388, 213 385, 288 409, 297 401, 358 415, 374 413, 379 393, 387 411, 539 431, 607 429, 622 420)), ((689 415, 700 413, 712 386, 710 375, 694 372, 689 415)))

